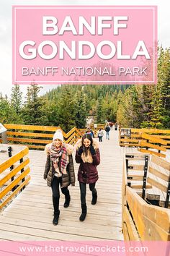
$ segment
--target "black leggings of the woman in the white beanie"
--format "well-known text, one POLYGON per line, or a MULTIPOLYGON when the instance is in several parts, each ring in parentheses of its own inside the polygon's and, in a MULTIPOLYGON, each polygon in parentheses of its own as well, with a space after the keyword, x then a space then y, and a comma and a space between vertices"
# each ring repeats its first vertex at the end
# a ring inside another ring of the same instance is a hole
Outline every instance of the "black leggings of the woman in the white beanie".
MULTIPOLYGON (((62 177, 56 177, 54 176, 53 181, 51 183, 51 189, 53 192, 53 207, 55 212, 59 210, 59 200, 60 200, 60 190, 59 190, 59 184, 61 185, 62 177)), ((68 190, 68 187, 61 187, 61 192, 65 197, 69 197, 70 193, 68 190)))

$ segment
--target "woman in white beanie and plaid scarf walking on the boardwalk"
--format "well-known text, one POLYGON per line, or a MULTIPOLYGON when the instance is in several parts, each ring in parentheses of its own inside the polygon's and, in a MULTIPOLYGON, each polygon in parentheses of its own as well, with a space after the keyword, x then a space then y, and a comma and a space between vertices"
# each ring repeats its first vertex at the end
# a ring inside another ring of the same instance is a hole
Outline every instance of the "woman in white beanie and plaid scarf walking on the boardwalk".
POLYGON ((75 185, 75 174, 73 168, 73 146, 63 143, 63 134, 61 130, 57 130, 53 135, 53 142, 45 146, 47 161, 45 164, 44 179, 52 189, 54 218, 53 225, 58 224, 60 216, 59 200, 60 190, 65 195, 63 207, 68 208, 70 204, 70 193, 68 186, 75 185))

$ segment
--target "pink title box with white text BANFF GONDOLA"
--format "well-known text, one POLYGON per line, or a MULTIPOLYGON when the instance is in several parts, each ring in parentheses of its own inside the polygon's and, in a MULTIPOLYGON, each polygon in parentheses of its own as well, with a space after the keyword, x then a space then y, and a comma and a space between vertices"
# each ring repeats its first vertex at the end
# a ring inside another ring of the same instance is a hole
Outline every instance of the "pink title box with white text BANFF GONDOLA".
POLYGON ((13 83, 154 84, 156 6, 13 6, 13 83))

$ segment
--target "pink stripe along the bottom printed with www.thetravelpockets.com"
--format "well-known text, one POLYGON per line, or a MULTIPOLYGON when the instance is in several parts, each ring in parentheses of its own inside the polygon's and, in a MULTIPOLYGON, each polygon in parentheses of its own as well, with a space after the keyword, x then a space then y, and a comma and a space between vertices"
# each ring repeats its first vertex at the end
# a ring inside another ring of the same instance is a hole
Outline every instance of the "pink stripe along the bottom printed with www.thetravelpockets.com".
MULTIPOLYGON (((29 237, 29 236, 28 236, 29 237)), ((40 239, 40 237, 37 239, 40 239)), ((61 237, 62 239, 62 237, 61 237)), ((0 255, 95 255, 95 256, 168 256, 170 242, 123 241, 0 241, 0 255)))

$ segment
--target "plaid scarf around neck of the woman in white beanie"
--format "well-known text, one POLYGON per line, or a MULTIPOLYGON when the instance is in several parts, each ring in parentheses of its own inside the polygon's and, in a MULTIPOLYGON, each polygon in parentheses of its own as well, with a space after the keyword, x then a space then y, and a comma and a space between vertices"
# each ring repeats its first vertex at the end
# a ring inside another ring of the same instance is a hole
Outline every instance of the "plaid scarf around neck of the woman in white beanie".
MULTIPOLYGON (((69 157, 68 157, 68 153, 66 150, 66 146, 63 145, 62 148, 56 148, 55 143, 53 142, 50 145, 49 153, 50 153, 50 158, 53 161, 53 166, 54 166, 55 170, 58 168, 58 158, 61 157, 61 173, 67 174, 66 168, 69 163, 69 157)), ((59 171, 60 171, 60 169, 59 169, 59 171)))

